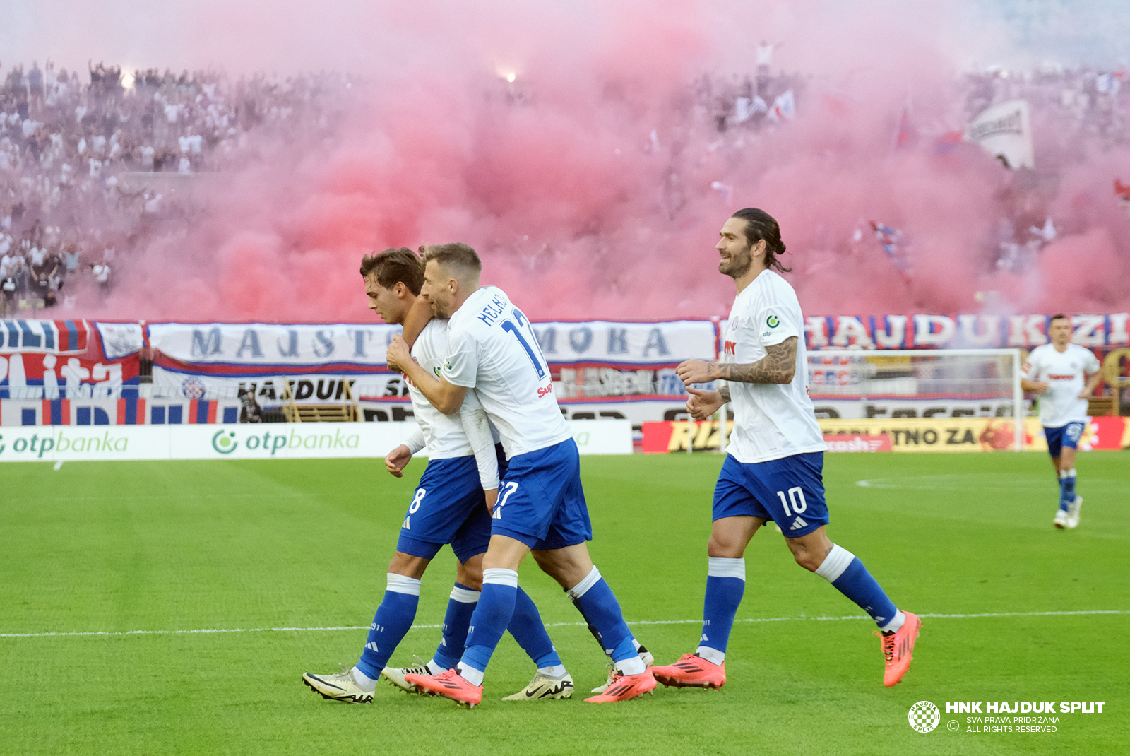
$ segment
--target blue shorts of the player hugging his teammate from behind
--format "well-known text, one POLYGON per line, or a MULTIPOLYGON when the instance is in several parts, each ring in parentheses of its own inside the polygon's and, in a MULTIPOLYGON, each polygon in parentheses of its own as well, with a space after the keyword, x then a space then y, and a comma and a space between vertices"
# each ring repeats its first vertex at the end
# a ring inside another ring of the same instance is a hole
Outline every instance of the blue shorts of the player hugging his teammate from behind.
POLYGON ((592 539, 581 457, 572 438, 510 459, 498 485, 490 532, 518 539, 533 550, 592 539))

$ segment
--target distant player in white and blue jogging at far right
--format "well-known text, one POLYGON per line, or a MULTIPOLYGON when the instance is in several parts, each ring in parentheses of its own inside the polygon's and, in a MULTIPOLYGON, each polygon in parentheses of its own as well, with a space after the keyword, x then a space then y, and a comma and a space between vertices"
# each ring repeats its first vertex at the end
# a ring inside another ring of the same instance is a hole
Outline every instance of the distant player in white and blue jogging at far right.
POLYGON ((1071 344, 1071 319, 1060 313, 1048 323, 1051 344, 1036 347, 1024 363, 1020 388, 1040 396, 1040 424, 1060 484, 1057 528, 1078 528, 1083 496, 1075 493, 1075 452, 1087 423, 1087 397, 1102 374, 1089 349, 1071 344))

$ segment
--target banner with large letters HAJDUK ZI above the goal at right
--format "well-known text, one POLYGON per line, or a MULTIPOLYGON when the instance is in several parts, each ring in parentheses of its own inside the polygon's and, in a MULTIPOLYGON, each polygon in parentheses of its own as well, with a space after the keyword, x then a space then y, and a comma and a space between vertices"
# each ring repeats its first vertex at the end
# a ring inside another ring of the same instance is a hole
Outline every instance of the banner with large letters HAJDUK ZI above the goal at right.
MULTIPOLYGON (((806 318, 809 349, 1032 349, 1048 344, 1051 314, 817 315, 806 318)), ((1074 315, 1071 340, 1084 347, 1130 345, 1130 313, 1074 315)), ((724 324, 722 325, 724 328, 724 324)))

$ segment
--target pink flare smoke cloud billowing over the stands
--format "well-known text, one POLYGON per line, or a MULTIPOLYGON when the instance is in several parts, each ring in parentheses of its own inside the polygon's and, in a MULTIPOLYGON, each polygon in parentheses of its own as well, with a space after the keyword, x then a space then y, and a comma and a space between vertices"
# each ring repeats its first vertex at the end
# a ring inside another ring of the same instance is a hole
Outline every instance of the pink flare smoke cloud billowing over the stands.
POLYGON ((241 0, 155 16, 45 0, 14 12, 8 47, 82 70, 93 57, 357 76, 330 137, 264 144, 212 177, 188 233, 123 254, 116 288, 84 315, 367 320, 362 254, 445 241, 475 246, 484 280, 534 319, 723 315, 733 289, 713 245, 748 206, 781 223, 807 314, 1130 307, 1130 220, 1112 191, 1130 181, 1124 133, 1072 131, 1061 103, 1034 102, 1031 175, 938 148, 966 123, 965 72, 1115 70, 1105 40, 1130 14, 924 5, 241 0), (720 131, 720 103, 747 77, 756 87, 763 41, 796 115, 720 131), (1001 224, 1045 216, 1057 236, 1002 268, 1001 224), (909 275, 870 220, 903 233, 909 275))

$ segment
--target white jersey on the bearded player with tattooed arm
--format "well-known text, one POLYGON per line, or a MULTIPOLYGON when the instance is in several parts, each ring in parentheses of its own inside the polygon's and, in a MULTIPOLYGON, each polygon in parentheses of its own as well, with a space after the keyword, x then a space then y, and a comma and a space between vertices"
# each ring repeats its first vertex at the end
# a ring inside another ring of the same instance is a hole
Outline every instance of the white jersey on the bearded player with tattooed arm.
POLYGON ((792 286, 772 270, 763 271, 733 301, 723 334, 722 362, 749 364, 765 347, 797 337, 797 372, 790 383, 728 381, 733 433, 727 452, 739 462, 823 452, 824 434, 808 398, 805 316, 792 286))

